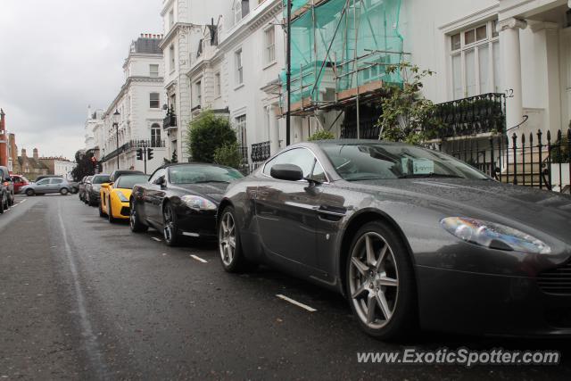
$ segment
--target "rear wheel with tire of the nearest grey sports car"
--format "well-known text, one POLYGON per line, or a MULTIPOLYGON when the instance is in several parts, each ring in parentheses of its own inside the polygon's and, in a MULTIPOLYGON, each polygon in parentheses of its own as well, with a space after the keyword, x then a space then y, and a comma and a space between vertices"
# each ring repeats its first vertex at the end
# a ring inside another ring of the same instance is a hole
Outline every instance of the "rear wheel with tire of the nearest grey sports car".
POLYGON ((236 211, 232 206, 227 206, 220 216, 217 231, 222 268, 233 273, 253 269, 255 265, 244 258, 240 244, 240 228, 236 225, 236 211))

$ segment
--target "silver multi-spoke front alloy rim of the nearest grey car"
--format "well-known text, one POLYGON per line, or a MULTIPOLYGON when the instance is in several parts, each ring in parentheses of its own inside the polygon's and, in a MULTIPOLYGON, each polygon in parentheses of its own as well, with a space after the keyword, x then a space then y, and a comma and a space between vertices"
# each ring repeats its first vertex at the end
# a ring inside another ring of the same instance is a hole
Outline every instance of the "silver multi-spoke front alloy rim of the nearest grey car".
POLYGON ((383 236, 360 236, 351 253, 349 289, 355 311, 367 327, 385 327, 393 318, 399 275, 393 249, 383 236))

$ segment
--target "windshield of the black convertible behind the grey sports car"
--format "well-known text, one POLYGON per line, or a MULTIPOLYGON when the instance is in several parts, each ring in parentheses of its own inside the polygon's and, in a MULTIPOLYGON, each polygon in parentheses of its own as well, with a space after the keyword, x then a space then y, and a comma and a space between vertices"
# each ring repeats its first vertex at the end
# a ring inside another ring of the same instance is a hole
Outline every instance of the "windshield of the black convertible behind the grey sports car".
POLYGON ((231 168, 214 165, 180 165, 169 169, 172 184, 229 183, 242 174, 231 168))

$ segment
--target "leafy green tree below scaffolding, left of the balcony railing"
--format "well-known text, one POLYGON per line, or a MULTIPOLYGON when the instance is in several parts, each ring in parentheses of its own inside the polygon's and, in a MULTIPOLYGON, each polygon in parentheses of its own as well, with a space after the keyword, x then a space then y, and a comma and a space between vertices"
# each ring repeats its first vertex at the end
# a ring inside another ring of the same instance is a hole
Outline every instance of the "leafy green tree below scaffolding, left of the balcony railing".
POLYGON ((387 66, 387 74, 396 72, 402 73, 404 83, 388 86, 389 95, 381 102, 383 113, 377 122, 381 128, 379 139, 417 144, 434 137, 440 125, 435 118, 436 106, 420 93, 422 81, 434 71, 420 70, 408 62, 387 66))

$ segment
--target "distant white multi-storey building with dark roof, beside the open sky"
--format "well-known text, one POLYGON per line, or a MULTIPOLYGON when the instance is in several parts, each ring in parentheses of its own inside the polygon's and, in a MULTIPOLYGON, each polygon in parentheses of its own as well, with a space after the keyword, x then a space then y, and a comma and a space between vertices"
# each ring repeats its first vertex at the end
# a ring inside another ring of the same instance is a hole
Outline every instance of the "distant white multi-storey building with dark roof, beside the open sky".
POLYGON ((94 140, 101 143, 103 172, 134 169, 153 172, 167 158, 162 129, 166 99, 163 92, 161 35, 144 34, 133 41, 123 65, 125 83, 103 112, 103 123, 94 128, 94 140), (114 114, 119 112, 119 122, 114 114), (137 150, 148 147, 153 159, 137 160, 137 150))

